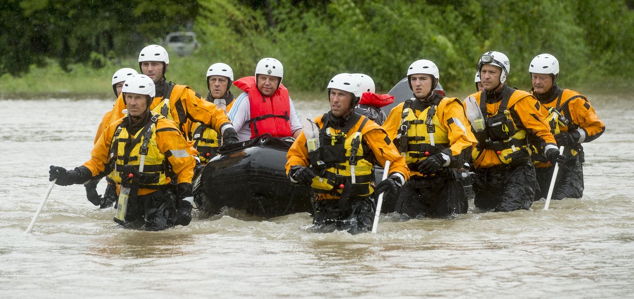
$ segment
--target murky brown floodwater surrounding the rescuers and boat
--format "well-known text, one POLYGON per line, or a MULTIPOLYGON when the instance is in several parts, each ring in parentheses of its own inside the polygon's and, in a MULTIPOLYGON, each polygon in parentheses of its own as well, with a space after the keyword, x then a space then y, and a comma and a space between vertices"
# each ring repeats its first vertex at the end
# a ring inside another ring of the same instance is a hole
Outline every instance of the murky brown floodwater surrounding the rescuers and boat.
MULTIPOLYGON (((589 96, 607 130, 585 146, 583 198, 453 220, 387 215, 376 235, 354 236, 310 233, 307 213, 240 211, 127 230, 81 185, 55 186, 25 234, 48 166, 89 158, 112 101, 0 101, 0 298, 633 298, 634 97, 589 96)), ((327 109, 325 96, 295 102, 327 109)))

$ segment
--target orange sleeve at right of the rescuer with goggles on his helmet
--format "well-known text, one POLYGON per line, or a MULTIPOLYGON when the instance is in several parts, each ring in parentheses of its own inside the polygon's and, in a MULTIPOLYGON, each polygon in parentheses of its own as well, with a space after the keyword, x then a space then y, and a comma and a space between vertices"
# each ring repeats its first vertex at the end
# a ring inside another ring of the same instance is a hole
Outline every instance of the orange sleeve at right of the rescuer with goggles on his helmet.
MULTIPOLYGON (((544 153, 549 149, 557 149, 555 137, 550 132, 550 125, 548 125, 544 114, 541 113, 541 104, 533 95, 527 95, 519 99, 509 110, 512 116, 517 116, 521 121, 521 123, 515 122, 515 126, 532 132, 538 138, 538 141, 545 145, 543 148, 544 153)), ((557 151, 559 152, 559 149, 557 151)))

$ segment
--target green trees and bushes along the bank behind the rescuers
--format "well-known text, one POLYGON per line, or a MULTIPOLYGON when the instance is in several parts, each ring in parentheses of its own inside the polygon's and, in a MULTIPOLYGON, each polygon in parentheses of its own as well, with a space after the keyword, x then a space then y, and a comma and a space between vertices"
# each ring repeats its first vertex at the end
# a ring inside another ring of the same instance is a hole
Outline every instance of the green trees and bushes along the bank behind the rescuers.
POLYGON ((295 90, 320 90, 344 71, 389 90, 421 58, 439 66, 446 89, 471 88, 490 50, 508 55, 508 81, 521 88, 542 52, 559 59, 562 85, 628 85, 634 75, 629 0, 181 2, 9 1, 0 8, 10 29, 0 34, 0 93, 107 96, 114 71, 138 68, 139 50, 175 30, 193 30, 201 46, 192 56, 172 53, 166 76, 200 93, 209 64, 228 63, 239 77, 264 57, 280 59, 295 90))

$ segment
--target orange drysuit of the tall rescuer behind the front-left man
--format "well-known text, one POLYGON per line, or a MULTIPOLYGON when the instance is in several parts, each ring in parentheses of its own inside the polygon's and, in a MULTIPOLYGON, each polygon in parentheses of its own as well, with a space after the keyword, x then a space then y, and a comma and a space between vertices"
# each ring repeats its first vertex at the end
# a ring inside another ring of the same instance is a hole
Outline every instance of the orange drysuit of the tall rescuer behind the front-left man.
MULTIPOLYGON (((121 112, 123 109, 126 109, 126 105, 123 101, 123 93, 121 93, 112 108, 108 123, 122 118, 124 116, 121 112)), ((236 135, 224 110, 216 107, 212 102, 205 101, 186 85, 174 85, 165 79, 156 83, 156 95, 150 103, 150 110, 174 121, 183 133, 183 137, 188 141, 193 138, 193 124, 196 122, 211 126, 223 136, 225 132, 236 135)), ((97 134, 100 135, 101 132, 98 131, 97 134)))

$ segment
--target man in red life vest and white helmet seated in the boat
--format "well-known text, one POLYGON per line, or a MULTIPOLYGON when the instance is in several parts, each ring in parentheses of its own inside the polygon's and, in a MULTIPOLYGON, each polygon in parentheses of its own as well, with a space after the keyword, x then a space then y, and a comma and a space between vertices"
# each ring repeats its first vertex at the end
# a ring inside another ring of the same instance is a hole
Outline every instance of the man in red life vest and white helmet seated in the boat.
POLYGON ((273 137, 297 138, 302 131, 299 116, 288 89, 281 85, 284 68, 275 58, 263 58, 256 66, 256 76, 234 82, 243 93, 229 112, 240 142, 269 133, 273 137))

